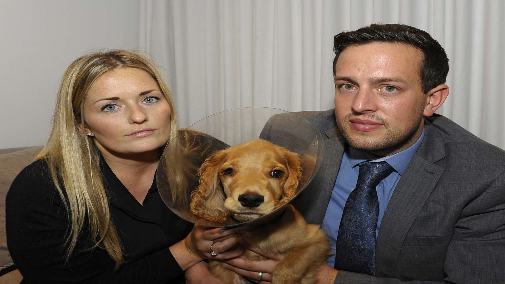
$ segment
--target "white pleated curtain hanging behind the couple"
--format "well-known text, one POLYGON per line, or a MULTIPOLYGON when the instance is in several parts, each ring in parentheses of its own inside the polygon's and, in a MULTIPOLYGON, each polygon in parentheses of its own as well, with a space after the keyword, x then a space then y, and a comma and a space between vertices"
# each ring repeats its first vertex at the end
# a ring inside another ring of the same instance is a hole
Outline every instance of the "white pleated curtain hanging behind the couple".
POLYGON ((501 0, 140 1, 140 47, 169 75, 180 126, 239 107, 333 108, 333 36, 371 23, 428 31, 450 60, 438 111, 505 149, 501 0))

